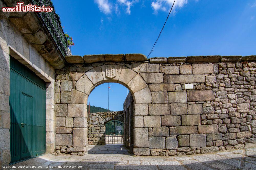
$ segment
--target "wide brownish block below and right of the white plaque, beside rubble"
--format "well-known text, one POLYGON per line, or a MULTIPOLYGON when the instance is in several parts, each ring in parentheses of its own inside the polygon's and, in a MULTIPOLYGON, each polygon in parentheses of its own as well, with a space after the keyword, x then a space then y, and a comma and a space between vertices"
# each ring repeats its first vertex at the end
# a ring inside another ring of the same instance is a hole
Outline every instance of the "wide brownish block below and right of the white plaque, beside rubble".
POLYGON ((188 102, 191 101, 213 101, 215 100, 215 96, 212 90, 189 90, 188 94, 188 102))

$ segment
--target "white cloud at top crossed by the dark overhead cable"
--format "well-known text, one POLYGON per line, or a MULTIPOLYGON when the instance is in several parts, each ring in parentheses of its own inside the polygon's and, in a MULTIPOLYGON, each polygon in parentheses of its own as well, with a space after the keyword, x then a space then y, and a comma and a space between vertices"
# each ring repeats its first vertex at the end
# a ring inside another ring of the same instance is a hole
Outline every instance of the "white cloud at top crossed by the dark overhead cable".
MULTIPOLYGON (((157 14, 159 10, 169 12, 170 8, 173 5, 173 2, 174 0, 153 0, 153 2, 151 3, 151 7, 153 8, 155 14, 157 14)), ((176 0, 173 8, 174 10, 175 8, 181 8, 187 3, 188 0, 176 0)))

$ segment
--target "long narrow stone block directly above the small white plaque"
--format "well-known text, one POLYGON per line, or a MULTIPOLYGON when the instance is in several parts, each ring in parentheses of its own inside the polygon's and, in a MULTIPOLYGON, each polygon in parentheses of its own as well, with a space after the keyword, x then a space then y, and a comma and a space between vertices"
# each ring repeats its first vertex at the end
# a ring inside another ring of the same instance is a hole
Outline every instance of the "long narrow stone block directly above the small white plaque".
POLYGON ((168 75, 167 83, 204 83, 204 74, 168 75))

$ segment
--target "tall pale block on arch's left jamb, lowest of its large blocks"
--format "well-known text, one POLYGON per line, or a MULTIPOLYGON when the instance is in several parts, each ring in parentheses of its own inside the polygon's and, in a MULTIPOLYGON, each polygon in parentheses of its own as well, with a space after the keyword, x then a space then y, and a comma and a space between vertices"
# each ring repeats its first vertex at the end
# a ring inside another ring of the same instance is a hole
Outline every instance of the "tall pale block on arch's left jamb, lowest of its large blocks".
POLYGON ((87 144, 87 128, 73 128, 73 147, 85 147, 87 144))

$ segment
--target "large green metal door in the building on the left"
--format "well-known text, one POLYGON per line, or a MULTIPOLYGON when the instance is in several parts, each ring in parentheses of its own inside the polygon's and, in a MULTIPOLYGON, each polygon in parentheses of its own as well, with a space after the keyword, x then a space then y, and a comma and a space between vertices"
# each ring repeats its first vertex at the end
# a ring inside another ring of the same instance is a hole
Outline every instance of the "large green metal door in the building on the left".
POLYGON ((10 56, 11 163, 46 150, 46 83, 10 56))

